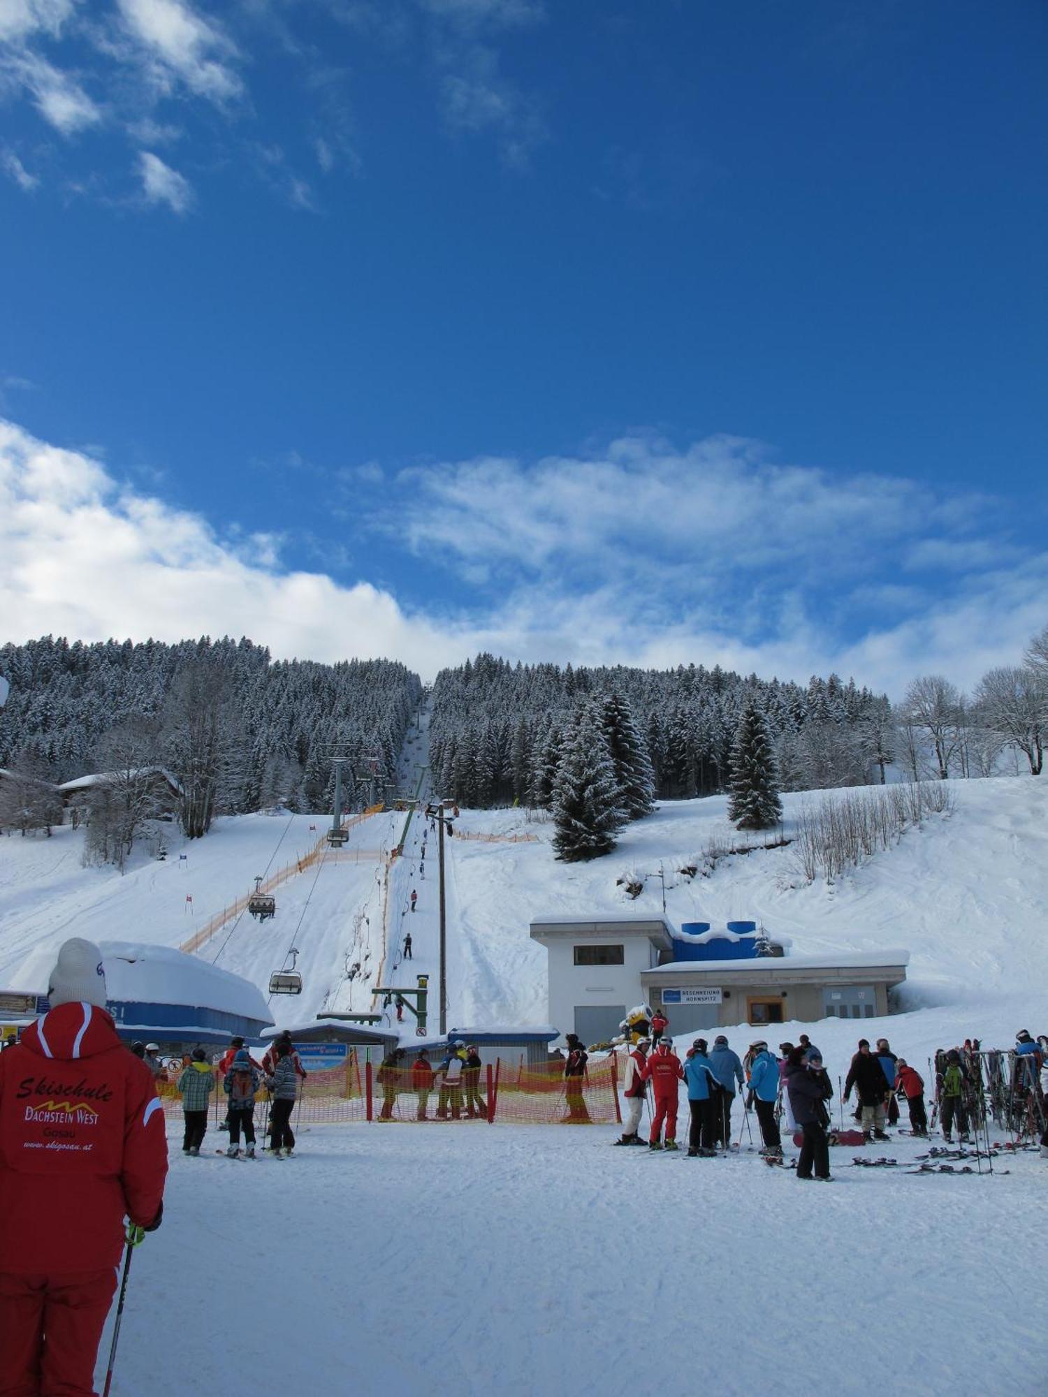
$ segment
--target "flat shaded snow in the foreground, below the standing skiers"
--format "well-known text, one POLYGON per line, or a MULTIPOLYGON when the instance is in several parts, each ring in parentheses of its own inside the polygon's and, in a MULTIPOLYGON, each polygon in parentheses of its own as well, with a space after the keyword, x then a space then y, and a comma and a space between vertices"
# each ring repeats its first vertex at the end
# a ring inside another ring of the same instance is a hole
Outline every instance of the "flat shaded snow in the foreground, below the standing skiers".
POLYGON ((279 1164, 176 1143, 115 1393, 1042 1397, 1034 1155, 950 1179, 836 1150, 817 1185, 613 1136, 331 1126, 279 1164))

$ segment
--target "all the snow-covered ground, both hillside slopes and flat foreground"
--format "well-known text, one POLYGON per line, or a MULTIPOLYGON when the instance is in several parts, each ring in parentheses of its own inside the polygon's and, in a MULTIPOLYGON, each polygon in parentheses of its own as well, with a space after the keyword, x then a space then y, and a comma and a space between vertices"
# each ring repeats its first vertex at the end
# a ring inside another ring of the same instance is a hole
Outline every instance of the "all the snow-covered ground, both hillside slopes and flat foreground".
MULTIPOLYGON (((425 760, 423 735, 408 759, 425 760)), ((787 837, 806 799, 785 799, 787 837)), ((323 816, 222 820, 191 845, 172 840, 165 863, 138 858, 123 879, 82 869, 70 830, 0 840, 0 988, 41 939, 177 944, 271 859, 270 870, 307 852, 319 833, 310 823, 323 828, 323 816)), ((387 982, 435 972, 436 837, 425 821, 412 820, 381 886, 381 851, 402 827, 402 814, 365 821, 351 842, 359 862, 291 879, 277 890, 275 921, 245 916, 203 954, 265 988, 296 944, 306 982, 291 1002, 296 1018, 363 999, 345 967, 365 933, 387 982), (404 965, 408 928, 415 961, 404 965)), ((520 810, 461 813, 446 844, 451 1024, 544 1023, 545 951, 530 919, 661 911, 661 862, 678 925, 753 918, 796 954, 907 946, 908 1011, 866 1020, 862 1032, 887 1034, 925 1074, 936 1046, 973 1034, 1009 1046, 1019 1028, 1048 1030, 1048 785, 1038 780, 957 782, 952 814, 831 887, 805 886, 789 848, 722 859, 708 879, 682 876, 707 840, 731 834, 717 798, 660 806, 588 865, 556 863, 551 833, 520 810), (510 842, 514 834, 538 842, 510 842), (626 870, 644 880, 636 901, 616 886, 626 870)), ((805 1027, 836 1081, 858 1024, 805 1027)), ((742 1051, 750 1032, 728 1037, 742 1051)), ((854 1151, 836 1150, 838 1182, 822 1186, 748 1154, 611 1150, 613 1134, 317 1127, 296 1160, 250 1165, 211 1153, 189 1161, 175 1141, 165 1225, 136 1257, 115 1391, 1048 1391, 1037 1301, 1048 1164, 1037 1155, 1007 1161, 1009 1173, 950 1179, 852 1168, 854 1151), (238 1282, 257 1331, 277 1341, 236 1337, 238 1282)), ((222 1139, 210 1134, 208 1148, 222 1139)), ((882 1148, 903 1161, 919 1147, 896 1137, 882 1148)))

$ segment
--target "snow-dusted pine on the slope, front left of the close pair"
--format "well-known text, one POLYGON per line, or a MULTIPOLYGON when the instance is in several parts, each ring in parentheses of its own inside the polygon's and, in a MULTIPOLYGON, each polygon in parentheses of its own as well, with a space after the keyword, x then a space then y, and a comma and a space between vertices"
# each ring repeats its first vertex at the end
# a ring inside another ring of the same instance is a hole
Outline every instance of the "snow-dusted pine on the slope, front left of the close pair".
POLYGON ((604 735, 602 705, 584 700, 572 715, 552 796, 553 848, 566 863, 615 848, 625 823, 615 763, 604 735))

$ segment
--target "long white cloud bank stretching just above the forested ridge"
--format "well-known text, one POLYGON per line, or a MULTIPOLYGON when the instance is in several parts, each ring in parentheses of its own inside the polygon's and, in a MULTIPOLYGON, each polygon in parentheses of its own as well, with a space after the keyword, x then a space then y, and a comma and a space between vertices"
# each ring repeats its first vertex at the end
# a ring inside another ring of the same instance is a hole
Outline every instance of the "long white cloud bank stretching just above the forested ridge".
MULTIPOLYGON (((562 535, 562 563, 544 532, 553 515, 551 500, 535 497, 542 506, 535 549, 544 566, 527 576, 514 571, 511 583, 486 606, 478 592, 468 606, 457 609, 437 598, 426 613, 408 610, 388 590, 367 580, 344 587, 323 573, 286 571, 279 562, 279 536, 245 538, 231 528, 229 538, 221 539, 198 515, 172 509, 155 495, 120 488, 85 453, 48 446, 0 419, 0 640, 49 631, 81 640, 247 634, 278 657, 331 661, 386 655, 426 678, 478 650, 560 664, 672 666, 694 661, 801 682, 813 672, 836 669, 898 697, 917 673, 942 672, 971 687, 992 665, 1017 662, 1030 636, 1048 619, 1048 555, 1042 553, 1012 567, 953 577, 950 592, 926 597, 917 610, 911 595, 893 609, 889 588, 880 598, 883 619, 861 638, 843 640, 845 631, 830 616, 827 592, 809 583, 812 553, 834 543, 847 553, 852 546, 858 525, 848 522, 851 532, 840 538, 833 528, 834 521, 851 521, 857 514, 855 497, 869 506, 887 496, 898 506, 912 499, 912 492, 924 493, 919 488, 910 485, 908 495, 905 482, 883 489, 873 481, 852 481, 843 488, 848 496, 844 503, 834 504, 831 482, 812 472, 817 479, 806 482, 805 497, 819 504, 822 525, 799 538, 792 562, 781 538, 774 542, 781 550, 774 566, 750 567, 746 548, 752 535, 787 503, 781 493, 773 493, 756 520, 738 517, 745 503, 759 504, 762 490, 769 489, 764 472, 770 468, 738 465, 736 448, 735 474, 722 469, 718 475, 736 495, 718 515, 729 521, 724 525, 729 532, 717 538, 707 528, 701 538, 690 539, 689 521, 700 524, 700 511, 692 510, 679 525, 660 514, 653 535, 644 514, 647 497, 609 497, 615 493, 608 485, 612 479, 643 483, 636 467, 646 458, 637 443, 620 443, 613 454, 619 474, 606 479, 601 472, 584 475, 581 492, 572 497, 583 515, 592 500, 594 518, 574 520, 574 531, 562 535), (633 464, 633 475, 623 462, 633 464), (748 471, 756 476, 753 490, 746 489, 748 471), (612 531, 609 520, 615 520, 612 531), (580 587, 576 555, 592 548, 602 555, 580 587), (671 556, 660 557, 667 549, 671 556)), ((681 460, 708 464, 722 454, 722 443, 704 443, 681 460)), ((476 462, 468 465, 476 469, 476 462)), ((528 521, 511 511, 530 513, 527 492, 510 489, 516 478, 511 462, 497 462, 485 479, 496 476, 502 481, 497 509, 510 511, 503 524, 523 553, 531 536, 528 521)), ((447 490, 449 479, 458 479, 450 467, 437 474, 437 493, 447 490)), ((465 475, 461 482, 474 481, 479 488, 479 479, 465 475)), ((796 486, 805 483, 803 472, 789 479, 796 486)), ((675 493, 679 482, 674 472, 661 482, 671 503, 683 502, 675 493)), ((781 482, 771 481, 776 483, 781 482)), ((419 492, 428 497, 425 474, 401 478, 400 488, 387 481, 386 490, 398 497, 398 509, 411 520, 419 492)), ((567 499, 560 499, 565 515, 570 513, 567 499)), ((425 507, 423 497, 421 513, 425 507)), ((931 507, 935 513, 935 502, 931 507)), ((905 513, 896 507, 887 515, 897 528, 905 513)), ((474 514, 490 524, 483 499, 474 514)), ((471 527, 472 515, 461 503, 457 517, 471 527)), ((436 583, 436 567, 453 543, 444 532, 426 539, 426 569, 436 583)), ((321 552, 328 552, 326 542, 321 552)), ((471 545, 463 552, 468 555, 464 566, 482 587, 483 549, 471 545)), ((499 566, 506 566, 502 553, 499 566)), ((834 590, 830 580, 830 597, 834 590)), ((843 599, 847 604, 847 597, 843 599)))

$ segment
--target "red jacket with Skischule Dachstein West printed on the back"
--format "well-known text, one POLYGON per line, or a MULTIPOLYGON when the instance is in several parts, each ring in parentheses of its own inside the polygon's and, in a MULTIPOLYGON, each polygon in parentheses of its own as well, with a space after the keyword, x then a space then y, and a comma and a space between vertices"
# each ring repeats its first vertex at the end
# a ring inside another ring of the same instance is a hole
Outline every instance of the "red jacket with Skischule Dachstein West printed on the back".
POLYGON ((105 1009, 52 1009, 0 1053, 0 1271, 119 1266, 124 1217, 148 1227, 168 1140, 147 1065, 105 1009))

